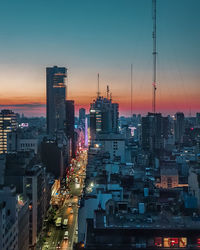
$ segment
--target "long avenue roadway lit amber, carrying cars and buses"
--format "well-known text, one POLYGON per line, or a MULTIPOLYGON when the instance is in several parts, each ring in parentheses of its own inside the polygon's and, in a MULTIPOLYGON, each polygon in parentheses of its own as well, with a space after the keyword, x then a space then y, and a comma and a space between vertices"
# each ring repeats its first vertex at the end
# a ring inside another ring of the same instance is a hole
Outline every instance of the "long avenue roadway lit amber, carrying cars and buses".
POLYGON ((87 164, 87 151, 82 151, 80 155, 72 162, 70 172, 68 173, 68 189, 69 194, 59 195, 59 199, 63 199, 56 211, 56 218, 61 217, 62 222, 68 219, 68 228, 63 229, 51 225, 49 232, 45 234, 45 242, 37 249, 73 249, 73 243, 77 241, 77 219, 78 219, 78 199, 82 194, 82 188, 85 178, 85 168, 87 164), (64 233, 68 231, 68 240, 64 240, 64 233), (49 234, 49 236, 47 236, 49 234))

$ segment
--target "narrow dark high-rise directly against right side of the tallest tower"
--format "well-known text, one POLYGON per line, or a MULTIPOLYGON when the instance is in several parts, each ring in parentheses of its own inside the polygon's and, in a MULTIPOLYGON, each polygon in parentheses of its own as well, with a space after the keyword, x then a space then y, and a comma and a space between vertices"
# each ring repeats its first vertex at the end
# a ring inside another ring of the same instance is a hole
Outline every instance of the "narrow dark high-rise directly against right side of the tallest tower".
POLYGON ((74 101, 66 100, 65 102, 65 134, 71 141, 71 156, 75 157, 76 145, 75 145, 75 134, 74 134, 74 101))

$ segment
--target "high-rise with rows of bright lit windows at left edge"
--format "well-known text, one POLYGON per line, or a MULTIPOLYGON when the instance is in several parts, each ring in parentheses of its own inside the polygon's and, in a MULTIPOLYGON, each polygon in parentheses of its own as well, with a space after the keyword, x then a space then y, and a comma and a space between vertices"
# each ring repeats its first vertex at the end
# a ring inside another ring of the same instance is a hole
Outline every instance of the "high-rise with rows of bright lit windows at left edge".
POLYGON ((0 154, 7 153, 8 134, 17 129, 16 114, 4 109, 0 112, 0 154))

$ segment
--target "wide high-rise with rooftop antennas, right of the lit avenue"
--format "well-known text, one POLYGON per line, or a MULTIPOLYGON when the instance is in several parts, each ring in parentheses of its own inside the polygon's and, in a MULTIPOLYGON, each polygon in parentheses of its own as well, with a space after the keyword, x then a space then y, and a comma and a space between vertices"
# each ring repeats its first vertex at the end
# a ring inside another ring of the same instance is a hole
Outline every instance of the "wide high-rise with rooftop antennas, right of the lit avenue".
POLYGON ((93 139, 96 133, 117 133, 119 120, 119 105, 111 99, 97 97, 90 104, 90 135, 93 139))

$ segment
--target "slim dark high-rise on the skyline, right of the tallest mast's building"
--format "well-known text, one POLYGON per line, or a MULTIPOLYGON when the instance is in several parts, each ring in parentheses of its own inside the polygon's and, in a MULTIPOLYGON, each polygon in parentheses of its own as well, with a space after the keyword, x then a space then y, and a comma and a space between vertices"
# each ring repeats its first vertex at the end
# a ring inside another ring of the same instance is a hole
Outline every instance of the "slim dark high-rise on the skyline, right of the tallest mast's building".
POLYGON ((178 112, 176 113, 174 120, 175 143, 183 142, 184 131, 185 131, 185 116, 182 112, 178 112))

